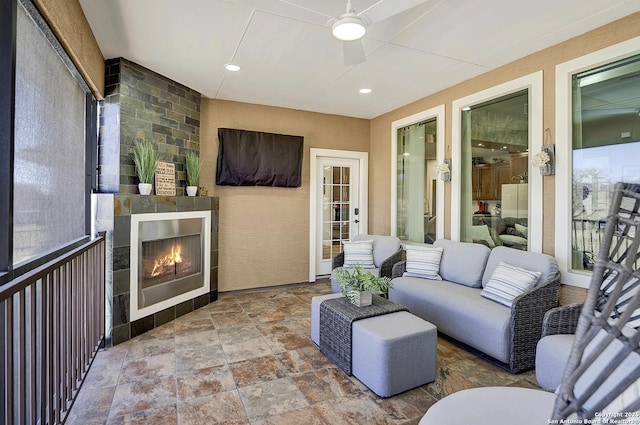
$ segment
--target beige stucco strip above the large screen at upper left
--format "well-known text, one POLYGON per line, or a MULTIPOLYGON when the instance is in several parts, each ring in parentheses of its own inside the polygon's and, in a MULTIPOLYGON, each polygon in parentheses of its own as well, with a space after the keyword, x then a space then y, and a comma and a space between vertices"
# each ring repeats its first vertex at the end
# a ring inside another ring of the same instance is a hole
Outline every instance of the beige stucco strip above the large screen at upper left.
POLYGON ((78 0, 34 0, 97 99, 104 98, 104 58, 78 0))

